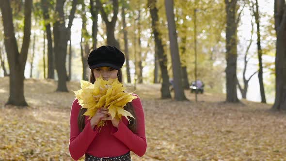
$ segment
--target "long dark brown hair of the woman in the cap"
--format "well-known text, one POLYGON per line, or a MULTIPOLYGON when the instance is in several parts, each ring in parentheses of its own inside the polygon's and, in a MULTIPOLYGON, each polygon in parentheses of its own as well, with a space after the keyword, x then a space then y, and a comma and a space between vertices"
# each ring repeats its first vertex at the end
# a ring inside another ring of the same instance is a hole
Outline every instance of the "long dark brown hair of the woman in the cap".
MULTIPOLYGON (((122 83, 122 72, 121 72, 121 69, 118 70, 118 73, 117 73, 117 78, 118 78, 118 81, 120 81, 122 83)), ((89 77, 89 82, 91 83, 95 83, 95 76, 94 76, 94 72, 93 72, 93 69, 91 69, 90 71, 90 77, 89 77)), ((129 117, 129 119, 131 120, 130 121, 130 124, 128 125, 128 128, 133 132, 133 133, 136 133, 136 128, 137 128, 137 122, 136 122, 136 114, 134 112, 134 108, 131 104, 131 102, 128 102, 127 105, 124 107, 124 110, 128 111, 129 113, 131 113, 134 117, 129 117)), ((85 108, 81 108, 79 110, 79 115, 78 115, 78 126, 79 126, 79 131, 81 132, 84 127, 85 127, 85 115, 83 115, 85 112, 87 111, 87 109, 85 108)))

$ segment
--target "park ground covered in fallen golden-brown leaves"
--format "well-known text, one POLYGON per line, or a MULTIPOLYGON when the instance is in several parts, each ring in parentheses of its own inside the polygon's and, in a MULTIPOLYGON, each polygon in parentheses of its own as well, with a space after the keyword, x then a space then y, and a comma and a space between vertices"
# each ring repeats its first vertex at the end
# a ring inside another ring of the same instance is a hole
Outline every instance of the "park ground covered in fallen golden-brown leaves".
MULTIPOLYGON (((69 93, 56 88, 53 80, 25 80, 29 107, 18 109, 4 106, 9 78, 0 78, 0 161, 73 161, 69 114, 79 82, 68 82, 69 93)), ((246 100, 224 103, 223 94, 198 95, 195 103, 185 91, 190 101, 161 100, 159 89, 137 85, 148 147, 132 161, 286 161, 285 112, 246 100)))

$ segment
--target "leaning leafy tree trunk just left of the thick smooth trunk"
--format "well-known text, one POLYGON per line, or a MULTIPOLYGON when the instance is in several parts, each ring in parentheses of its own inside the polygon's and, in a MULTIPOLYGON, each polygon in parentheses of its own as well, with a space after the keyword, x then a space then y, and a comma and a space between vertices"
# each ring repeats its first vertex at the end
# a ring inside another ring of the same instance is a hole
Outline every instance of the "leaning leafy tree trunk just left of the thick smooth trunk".
POLYGON ((162 34, 159 30, 159 16, 158 9, 156 7, 157 0, 148 0, 148 6, 150 8, 150 14, 152 17, 152 31, 155 39, 155 55, 157 55, 159 59, 159 66, 161 77, 159 77, 159 82, 162 79, 161 85, 161 98, 171 98, 170 90, 169 90, 169 76, 167 70, 167 56, 165 54, 163 44, 162 44, 162 34))

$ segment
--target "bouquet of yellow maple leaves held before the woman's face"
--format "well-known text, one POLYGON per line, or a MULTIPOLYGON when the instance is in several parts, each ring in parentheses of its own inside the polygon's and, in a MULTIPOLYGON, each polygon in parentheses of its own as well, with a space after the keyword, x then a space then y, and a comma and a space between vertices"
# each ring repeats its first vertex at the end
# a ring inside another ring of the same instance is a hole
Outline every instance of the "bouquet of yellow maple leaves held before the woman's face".
MULTIPOLYGON (((89 116, 88 119, 91 119, 98 109, 104 107, 108 109, 112 119, 117 117, 121 120, 121 117, 124 116, 130 123, 127 116, 133 116, 124 110, 124 106, 137 97, 131 95, 132 93, 124 92, 126 88, 117 78, 105 81, 102 77, 99 77, 94 84, 81 80, 80 87, 80 90, 73 92, 78 98, 81 108, 87 109, 83 115, 89 116)), ((104 121, 100 121, 97 126, 104 126, 104 121)))

